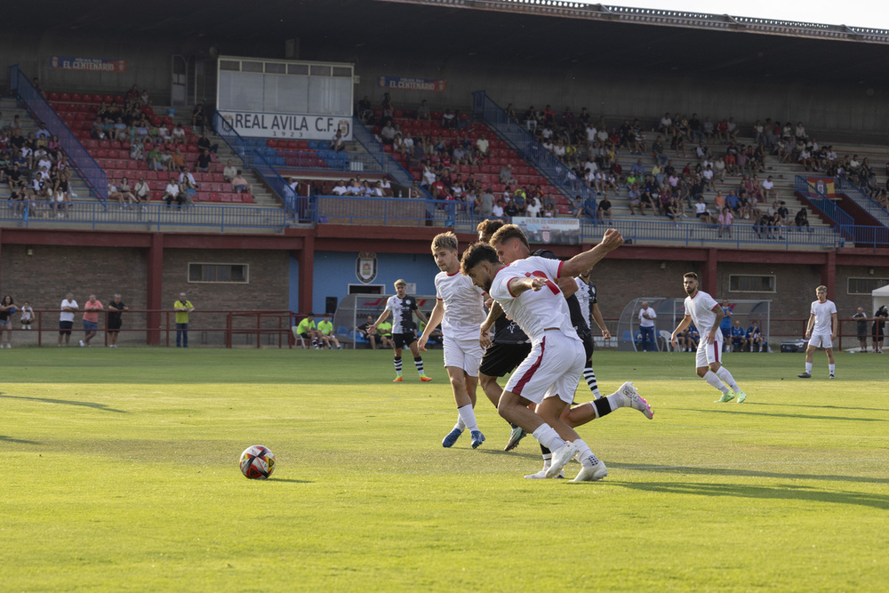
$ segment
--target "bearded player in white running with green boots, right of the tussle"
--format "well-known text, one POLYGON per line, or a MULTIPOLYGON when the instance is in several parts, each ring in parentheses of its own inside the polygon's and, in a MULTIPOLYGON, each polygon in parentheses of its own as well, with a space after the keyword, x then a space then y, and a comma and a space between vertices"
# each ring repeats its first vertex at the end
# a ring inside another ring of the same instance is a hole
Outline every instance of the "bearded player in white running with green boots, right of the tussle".
POLYGON ((698 376, 710 385, 719 389, 723 396, 717 403, 730 402, 735 397, 742 404, 747 394, 741 391, 734 381, 732 373, 721 364, 723 351, 723 334, 719 330, 719 322, 723 318, 723 309, 707 292, 698 290, 698 275, 688 272, 683 276, 683 285, 688 296, 685 297, 685 317, 670 336, 670 342, 677 346, 677 336, 692 322, 698 328, 701 341, 698 342, 698 353, 695 357, 695 368, 698 376), (725 384, 724 384, 725 383, 725 384), (725 387, 728 385, 728 387, 725 387), (733 393, 729 391, 732 388, 733 393))

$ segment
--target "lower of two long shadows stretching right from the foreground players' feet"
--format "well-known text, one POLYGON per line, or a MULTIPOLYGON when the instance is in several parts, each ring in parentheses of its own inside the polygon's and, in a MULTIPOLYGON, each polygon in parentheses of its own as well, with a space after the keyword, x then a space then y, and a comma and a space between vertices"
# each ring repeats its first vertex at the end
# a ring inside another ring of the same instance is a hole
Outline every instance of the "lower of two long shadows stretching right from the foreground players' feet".
POLYGON ((850 493, 842 491, 816 490, 800 485, 740 485, 740 484, 696 484, 674 482, 618 482, 632 490, 664 494, 693 494, 696 496, 730 496, 746 499, 777 501, 812 501, 854 504, 862 507, 889 510, 889 496, 877 494, 850 493))

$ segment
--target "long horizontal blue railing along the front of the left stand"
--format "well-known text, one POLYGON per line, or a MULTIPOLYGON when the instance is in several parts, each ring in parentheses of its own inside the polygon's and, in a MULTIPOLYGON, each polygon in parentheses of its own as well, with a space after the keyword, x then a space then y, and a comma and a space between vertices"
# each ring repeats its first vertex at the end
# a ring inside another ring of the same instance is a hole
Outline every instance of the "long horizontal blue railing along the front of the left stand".
POLYGON ((12 202, 0 203, 0 221, 13 222, 22 228, 102 228, 114 226, 138 226, 169 230, 169 228, 203 228, 206 230, 226 230, 235 228, 261 228, 283 230, 286 226, 284 208, 261 208, 256 206, 191 205, 177 207, 165 204, 147 204, 144 207, 132 204, 121 208, 116 204, 98 202, 75 202, 73 204, 53 202, 12 202))

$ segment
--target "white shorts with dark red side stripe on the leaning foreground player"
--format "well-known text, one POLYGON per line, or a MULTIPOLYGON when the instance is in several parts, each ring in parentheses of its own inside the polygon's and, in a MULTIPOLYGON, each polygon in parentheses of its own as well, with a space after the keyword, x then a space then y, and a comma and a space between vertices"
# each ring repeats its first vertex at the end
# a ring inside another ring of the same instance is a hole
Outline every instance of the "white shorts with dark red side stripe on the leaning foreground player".
POLYGON ((531 354, 509 377, 504 391, 540 404, 547 397, 571 404, 586 363, 583 342, 569 338, 560 330, 549 330, 543 340, 533 344, 531 354))

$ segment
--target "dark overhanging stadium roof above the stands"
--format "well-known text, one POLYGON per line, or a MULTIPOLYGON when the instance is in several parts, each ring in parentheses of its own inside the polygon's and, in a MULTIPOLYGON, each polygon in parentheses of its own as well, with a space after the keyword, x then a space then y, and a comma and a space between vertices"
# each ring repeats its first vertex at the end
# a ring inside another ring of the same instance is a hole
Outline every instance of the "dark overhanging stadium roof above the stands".
POLYGON ((561 0, 264 0, 249 9, 242 0, 215 0, 199 10, 179 0, 154 0, 151 10, 49 0, 23 3, 16 13, 14 27, 0 28, 38 36, 117 32, 146 42, 174 36, 195 48, 269 58, 283 57, 284 40, 296 37, 308 60, 360 61, 371 48, 409 52, 418 63, 462 54, 510 65, 589 62, 605 74, 889 89, 887 31, 561 0))

